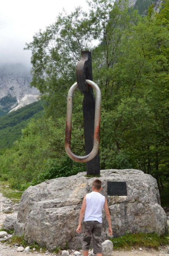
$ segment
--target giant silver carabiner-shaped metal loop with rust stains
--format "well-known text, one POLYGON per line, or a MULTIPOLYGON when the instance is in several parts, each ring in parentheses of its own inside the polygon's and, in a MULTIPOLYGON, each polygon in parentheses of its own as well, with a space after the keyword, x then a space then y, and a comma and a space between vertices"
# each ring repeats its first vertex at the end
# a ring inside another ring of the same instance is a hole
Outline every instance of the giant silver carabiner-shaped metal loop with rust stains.
POLYGON ((96 156, 99 150, 99 135, 100 135, 100 111, 101 111, 101 92, 97 84, 90 80, 86 83, 91 86, 96 92, 95 102, 95 118, 94 118, 94 140, 92 151, 86 156, 77 156, 71 151, 71 127, 72 127, 72 109, 73 109, 73 94, 77 89, 77 82, 71 86, 67 97, 67 116, 66 116, 66 136, 65 136, 65 150, 68 156, 76 162, 88 162, 96 156))

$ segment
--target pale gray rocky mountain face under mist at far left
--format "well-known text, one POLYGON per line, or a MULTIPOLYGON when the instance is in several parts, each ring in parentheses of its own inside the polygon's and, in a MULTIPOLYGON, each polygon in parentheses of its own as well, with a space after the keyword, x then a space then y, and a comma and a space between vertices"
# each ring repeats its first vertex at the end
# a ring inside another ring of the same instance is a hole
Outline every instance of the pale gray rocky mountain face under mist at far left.
POLYGON ((0 65, 0 108, 8 112, 37 101, 39 91, 30 82, 29 69, 23 64, 0 65))

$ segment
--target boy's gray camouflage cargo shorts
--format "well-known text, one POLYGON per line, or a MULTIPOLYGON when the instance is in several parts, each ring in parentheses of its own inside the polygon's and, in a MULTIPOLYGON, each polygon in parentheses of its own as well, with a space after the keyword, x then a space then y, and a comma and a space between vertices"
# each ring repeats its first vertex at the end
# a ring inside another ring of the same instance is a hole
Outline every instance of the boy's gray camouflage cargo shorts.
POLYGON ((93 237, 93 253, 102 253, 102 223, 96 220, 84 222, 83 251, 89 250, 91 238, 93 237))

